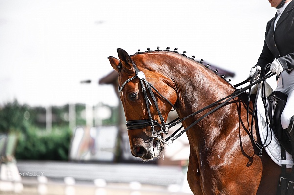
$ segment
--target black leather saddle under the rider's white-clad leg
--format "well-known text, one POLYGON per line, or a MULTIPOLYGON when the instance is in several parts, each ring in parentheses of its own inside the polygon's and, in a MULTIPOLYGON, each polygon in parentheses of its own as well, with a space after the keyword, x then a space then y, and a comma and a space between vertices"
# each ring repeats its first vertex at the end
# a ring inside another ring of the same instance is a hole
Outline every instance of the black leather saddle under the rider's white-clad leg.
POLYGON ((289 154, 291 154, 290 136, 287 130, 281 125, 281 114, 287 102, 287 95, 280 91, 272 92, 267 98, 268 116, 270 119, 270 127, 275 136, 289 154))

